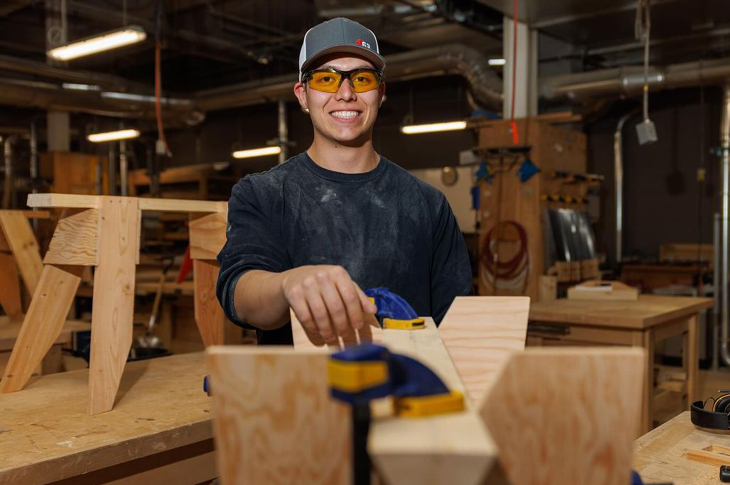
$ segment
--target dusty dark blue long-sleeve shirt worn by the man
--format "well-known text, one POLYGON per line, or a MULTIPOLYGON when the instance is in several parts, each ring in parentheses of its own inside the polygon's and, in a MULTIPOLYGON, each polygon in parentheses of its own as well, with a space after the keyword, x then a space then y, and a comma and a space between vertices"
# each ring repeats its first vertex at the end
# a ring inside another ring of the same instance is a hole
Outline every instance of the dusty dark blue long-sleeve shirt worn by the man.
MULTIPOLYGON (((381 157, 367 173, 326 170, 306 152, 247 175, 228 202, 217 295, 233 322, 245 272, 343 266, 363 290, 385 286, 439 323, 454 297, 471 293, 463 236, 444 195, 381 157)), ((289 324, 258 331, 260 344, 292 342, 289 324)))

